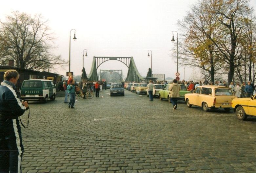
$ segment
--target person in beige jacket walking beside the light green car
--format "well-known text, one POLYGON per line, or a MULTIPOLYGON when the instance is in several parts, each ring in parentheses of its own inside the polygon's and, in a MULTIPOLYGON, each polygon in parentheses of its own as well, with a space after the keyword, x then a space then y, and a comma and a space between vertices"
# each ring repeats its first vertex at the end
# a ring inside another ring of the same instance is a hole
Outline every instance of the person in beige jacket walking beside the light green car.
POLYGON ((180 97, 181 86, 177 83, 176 79, 173 79, 172 85, 169 87, 169 98, 173 106, 173 110, 177 109, 178 99, 180 97))

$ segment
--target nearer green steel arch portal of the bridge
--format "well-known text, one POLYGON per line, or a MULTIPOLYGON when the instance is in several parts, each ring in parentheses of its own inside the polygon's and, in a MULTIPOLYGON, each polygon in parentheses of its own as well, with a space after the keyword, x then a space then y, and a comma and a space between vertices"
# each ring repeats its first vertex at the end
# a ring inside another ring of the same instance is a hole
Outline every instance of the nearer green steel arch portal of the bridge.
POLYGON ((140 75, 135 62, 133 60, 133 57, 93 57, 92 65, 91 65, 91 71, 88 75, 88 79, 90 81, 97 81, 97 69, 101 64, 103 64, 106 61, 110 60, 116 60, 124 63, 128 67, 128 74, 125 81, 137 81, 141 82, 144 80, 144 78, 140 75))

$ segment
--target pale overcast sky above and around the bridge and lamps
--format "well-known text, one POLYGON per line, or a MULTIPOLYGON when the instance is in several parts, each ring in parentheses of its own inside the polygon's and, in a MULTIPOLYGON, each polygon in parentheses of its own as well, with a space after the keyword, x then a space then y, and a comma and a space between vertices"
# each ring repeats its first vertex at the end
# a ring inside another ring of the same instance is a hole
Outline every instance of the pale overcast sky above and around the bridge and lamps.
MULTIPOLYGON (((177 63, 171 32, 178 31, 177 21, 197 0, 9 0, 1 1, 0 20, 11 11, 28 14, 41 13, 49 20, 49 27, 56 37, 56 55, 69 60, 69 32, 76 29, 77 40, 71 40, 71 71, 81 75, 83 50, 87 49, 85 69, 90 73, 93 56, 133 57, 142 76, 146 76, 151 65, 148 49, 152 50, 153 74, 175 77, 177 63), (173 57, 174 56, 174 57, 173 57), (174 59, 173 59, 174 58, 174 59)), ((251 0, 256 9, 256 0, 251 0)), ((73 38, 71 32, 71 39, 73 38)), ((175 40, 177 36, 174 36, 175 40)), ((179 40, 182 38, 179 37, 179 40)), ((103 63, 102 69, 123 70, 128 68, 118 61, 103 63)), ((69 66, 50 69, 50 72, 66 75, 69 66)), ((185 68, 185 78, 189 79, 191 68, 185 68)), ((179 67, 181 79, 184 67, 179 67)))

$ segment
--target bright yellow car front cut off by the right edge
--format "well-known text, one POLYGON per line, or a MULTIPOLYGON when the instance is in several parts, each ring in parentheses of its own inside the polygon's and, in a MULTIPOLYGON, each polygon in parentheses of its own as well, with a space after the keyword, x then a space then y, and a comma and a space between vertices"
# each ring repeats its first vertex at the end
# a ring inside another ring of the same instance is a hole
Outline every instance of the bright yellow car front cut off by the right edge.
POLYGON ((256 116, 256 95, 251 98, 235 98, 232 100, 232 108, 235 109, 236 117, 246 120, 247 116, 256 116))

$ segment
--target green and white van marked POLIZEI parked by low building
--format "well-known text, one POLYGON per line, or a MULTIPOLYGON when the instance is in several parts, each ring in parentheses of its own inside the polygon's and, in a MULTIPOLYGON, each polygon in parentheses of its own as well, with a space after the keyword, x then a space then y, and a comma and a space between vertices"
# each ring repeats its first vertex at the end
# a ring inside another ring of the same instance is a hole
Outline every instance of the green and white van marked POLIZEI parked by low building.
POLYGON ((52 80, 30 79, 24 80, 21 89, 21 99, 26 101, 55 100, 56 88, 52 80))

